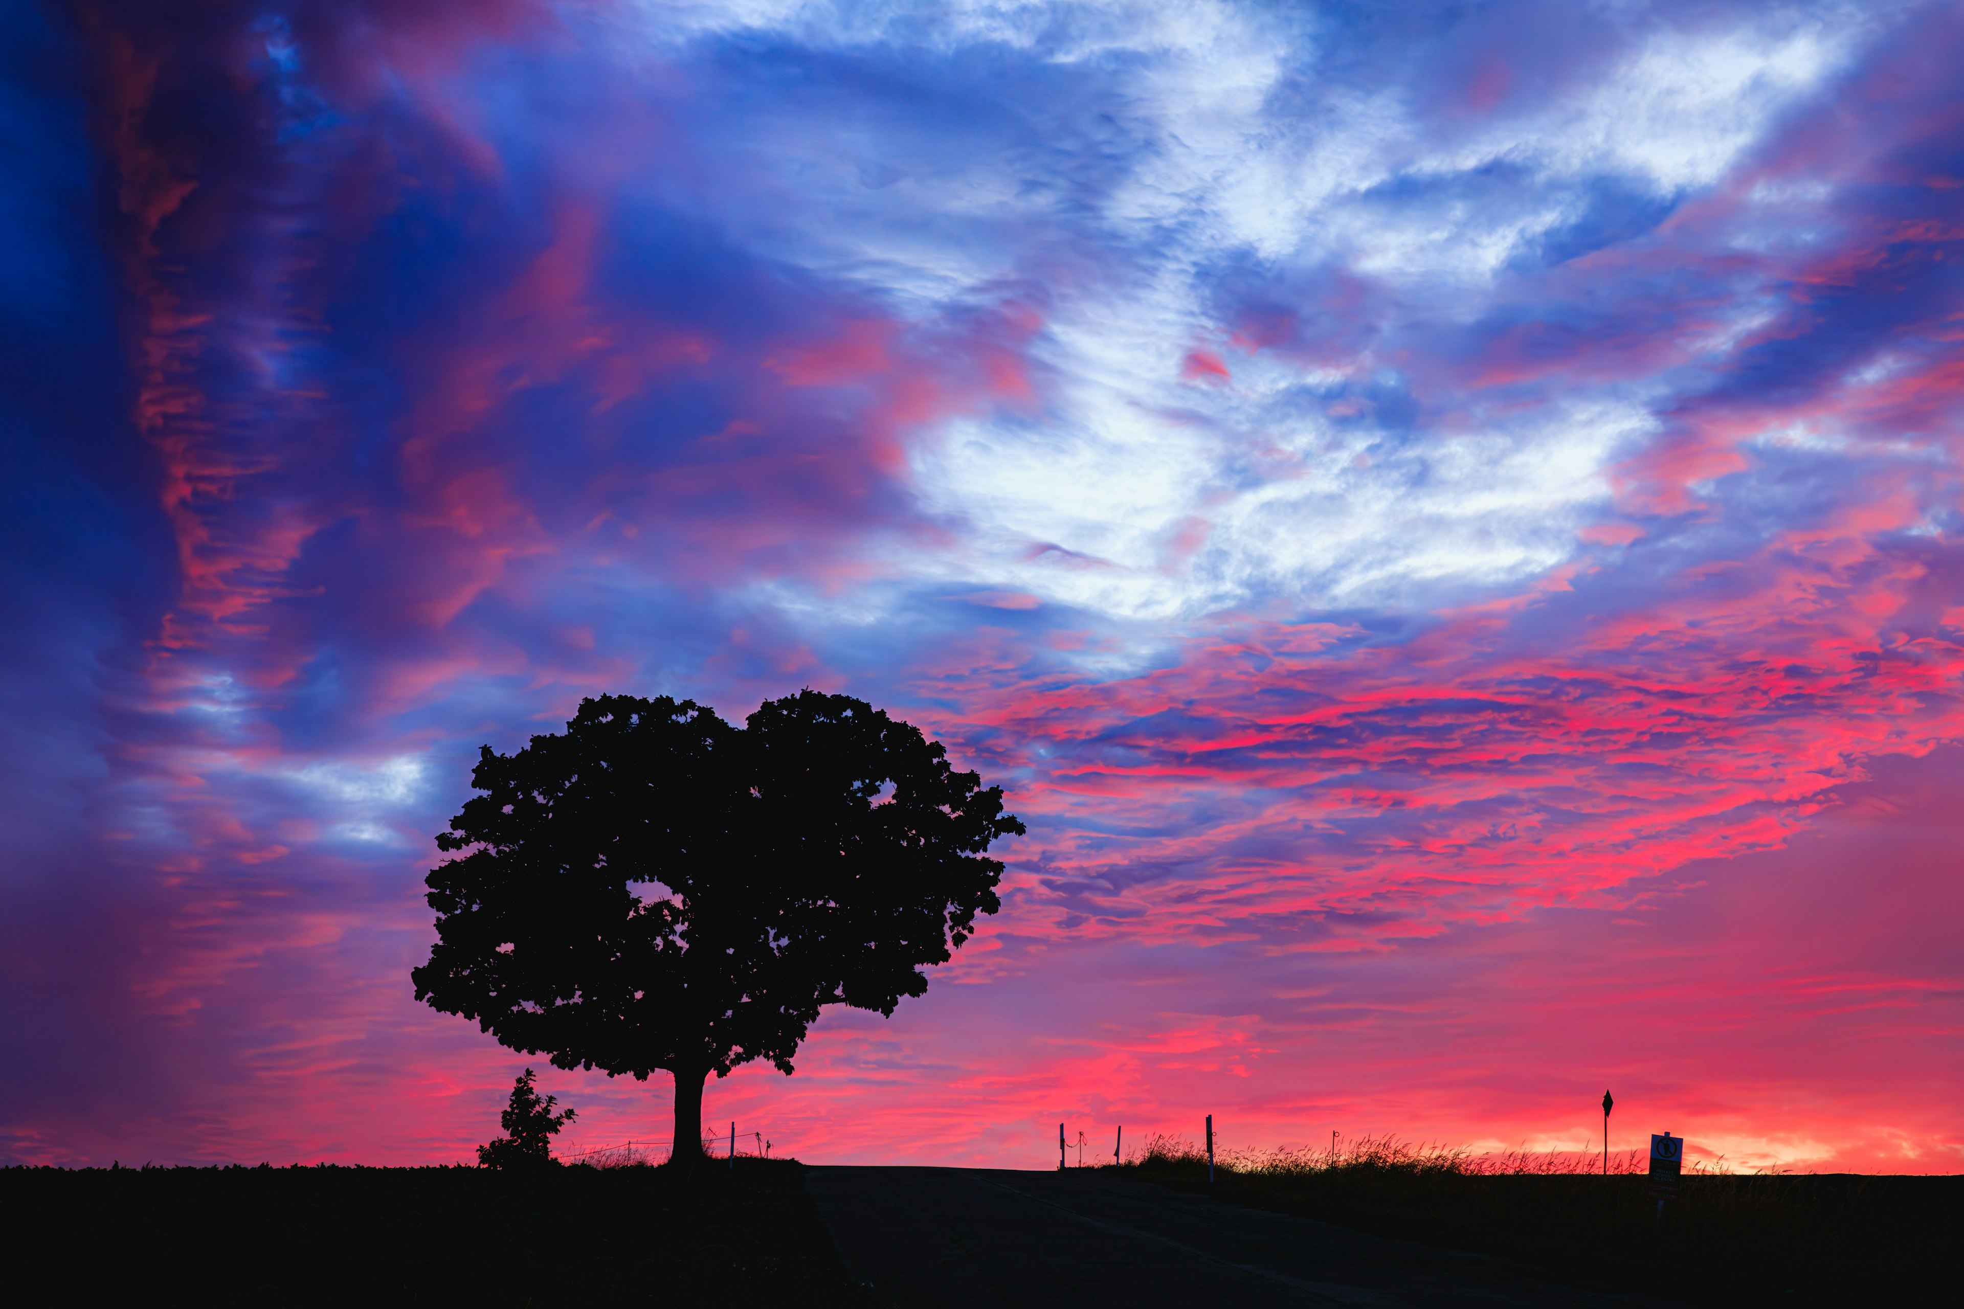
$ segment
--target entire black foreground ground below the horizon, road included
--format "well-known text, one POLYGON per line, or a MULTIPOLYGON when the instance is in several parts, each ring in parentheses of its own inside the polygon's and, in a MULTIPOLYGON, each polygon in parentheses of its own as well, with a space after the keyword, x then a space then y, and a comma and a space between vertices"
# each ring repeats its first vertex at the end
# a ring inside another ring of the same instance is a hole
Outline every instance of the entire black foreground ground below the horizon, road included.
POLYGON ((1691 1178, 1660 1225, 1640 1178, 6 1168, 0 1215, 20 1303, 1913 1305, 1964 1178, 1691 1178))

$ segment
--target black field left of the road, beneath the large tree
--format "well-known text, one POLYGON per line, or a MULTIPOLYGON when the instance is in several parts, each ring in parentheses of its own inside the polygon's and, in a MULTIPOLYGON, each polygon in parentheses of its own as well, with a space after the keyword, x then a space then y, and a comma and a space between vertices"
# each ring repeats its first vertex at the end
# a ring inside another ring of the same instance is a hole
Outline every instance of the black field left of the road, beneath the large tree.
MULTIPOLYGON (((860 1305, 803 1166, 0 1170, 43 1303, 860 1305), (41 1278, 35 1278, 37 1282, 41 1278)), ((26 1303, 26 1301, 22 1301, 26 1303)))

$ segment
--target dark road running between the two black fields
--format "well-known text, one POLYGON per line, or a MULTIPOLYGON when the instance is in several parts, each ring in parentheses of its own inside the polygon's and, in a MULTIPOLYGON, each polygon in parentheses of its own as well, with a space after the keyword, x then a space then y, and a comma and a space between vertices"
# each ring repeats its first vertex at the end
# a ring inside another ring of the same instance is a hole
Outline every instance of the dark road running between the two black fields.
POLYGON ((854 1280, 901 1309, 1662 1303, 1088 1170, 813 1168, 805 1189, 854 1280))

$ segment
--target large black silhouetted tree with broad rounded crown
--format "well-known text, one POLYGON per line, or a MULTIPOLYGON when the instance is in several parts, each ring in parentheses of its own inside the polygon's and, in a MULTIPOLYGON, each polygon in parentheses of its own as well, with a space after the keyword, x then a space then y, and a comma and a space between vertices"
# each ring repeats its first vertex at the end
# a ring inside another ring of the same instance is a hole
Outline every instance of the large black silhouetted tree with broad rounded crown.
POLYGON ((581 701, 564 734, 479 754, 428 877, 416 999, 556 1068, 703 1081, 791 1072, 823 1005, 892 1017, 996 913, 1002 787, 864 701, 801 691, 733 728, 693 701, 581 701))

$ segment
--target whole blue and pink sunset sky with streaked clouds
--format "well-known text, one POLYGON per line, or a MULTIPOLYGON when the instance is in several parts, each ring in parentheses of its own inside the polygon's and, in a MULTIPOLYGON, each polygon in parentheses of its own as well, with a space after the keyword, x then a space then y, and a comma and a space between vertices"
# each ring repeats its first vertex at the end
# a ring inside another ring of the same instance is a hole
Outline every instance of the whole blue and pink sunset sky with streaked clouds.
POLYGON ((0 1162, 562 1150, 477 748, 860 695, 1004 909, 705 1117, 1960 1172, 1964 12, 0 4, 0 1162))

